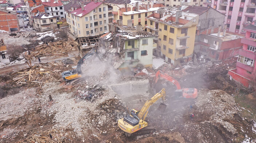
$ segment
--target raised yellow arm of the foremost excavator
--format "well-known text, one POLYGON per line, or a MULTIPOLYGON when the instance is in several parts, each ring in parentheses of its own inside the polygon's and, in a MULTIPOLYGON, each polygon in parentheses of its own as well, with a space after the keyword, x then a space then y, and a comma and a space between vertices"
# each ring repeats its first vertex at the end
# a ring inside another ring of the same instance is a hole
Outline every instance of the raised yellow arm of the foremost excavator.
POLYGON ((163 102, 165 102, 165 89, 164 88, 160 92, 155 94, 152 98, 150 98, 149 100, 147 100, 145 102, 145 104, 143 105, 142 109, 138 113, 138 118, 142 119, 144 121, 144 119, 147 116, 147 113, 149 111, 150 106, 152 104, 154 104, 154 102, 156 102, 160 98, 162 98, 163 102))

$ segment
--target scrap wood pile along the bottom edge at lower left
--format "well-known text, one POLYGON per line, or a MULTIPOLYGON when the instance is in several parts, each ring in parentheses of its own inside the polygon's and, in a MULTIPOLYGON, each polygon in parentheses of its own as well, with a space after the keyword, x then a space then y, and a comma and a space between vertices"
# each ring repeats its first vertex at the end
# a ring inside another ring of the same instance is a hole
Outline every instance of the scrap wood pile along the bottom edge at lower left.
POLYGON ((66 143, 70 142, 64 134, 60 132, 63 129, 50 129, 46 131, 39 131, 20 140, 18 143, 66 143), (52 138, 50 138, 50 134, 52 138))

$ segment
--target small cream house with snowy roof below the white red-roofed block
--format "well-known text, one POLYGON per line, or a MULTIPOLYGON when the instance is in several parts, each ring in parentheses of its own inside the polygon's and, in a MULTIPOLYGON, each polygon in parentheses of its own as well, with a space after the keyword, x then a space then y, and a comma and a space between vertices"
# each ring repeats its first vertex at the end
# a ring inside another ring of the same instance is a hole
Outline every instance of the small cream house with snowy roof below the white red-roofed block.
POLYGON ((51 16, 43 13, 33 16, 33 18, 35 22, 35 29, 38 31, 48 31, 58 27, 57 18, 59 18, 59 16, 51 16))

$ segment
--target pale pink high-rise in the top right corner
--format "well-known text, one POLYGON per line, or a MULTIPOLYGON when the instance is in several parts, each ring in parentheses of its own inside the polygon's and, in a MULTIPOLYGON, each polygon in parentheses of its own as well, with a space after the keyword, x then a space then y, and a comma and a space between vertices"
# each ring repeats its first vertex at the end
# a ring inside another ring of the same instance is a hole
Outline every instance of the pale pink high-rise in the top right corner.
POLYGON ((245 34, 243 28, 255 17, 256 0, 212 0, 212 7, 226 15, 227 30, 245 34))

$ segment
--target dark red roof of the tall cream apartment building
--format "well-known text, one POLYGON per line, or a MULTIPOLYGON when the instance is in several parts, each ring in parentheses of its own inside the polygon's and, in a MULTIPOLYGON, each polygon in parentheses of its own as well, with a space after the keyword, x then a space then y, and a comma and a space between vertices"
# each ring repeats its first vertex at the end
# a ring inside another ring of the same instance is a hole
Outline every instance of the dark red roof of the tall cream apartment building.
POLYGON ((87 13, 91 12, 93 9, 97 8, 99 5, 102 3, 100 2, 94 2, 92 1, 91 3, 88 3, 87 5, 84 5, 84 10, 82 8, 78 8, 70 13, 75 14, 76 16, 82 17, 86 15, 87 13))

